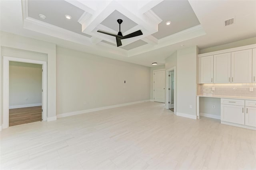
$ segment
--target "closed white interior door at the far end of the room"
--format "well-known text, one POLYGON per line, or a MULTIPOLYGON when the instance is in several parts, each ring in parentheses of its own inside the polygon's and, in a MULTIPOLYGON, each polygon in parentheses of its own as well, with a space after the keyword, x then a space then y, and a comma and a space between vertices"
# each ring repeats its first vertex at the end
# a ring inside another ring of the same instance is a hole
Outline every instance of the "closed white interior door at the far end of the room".
POLYGON ((165 70, 154 71, 154 101, 165 102, 165 70))

